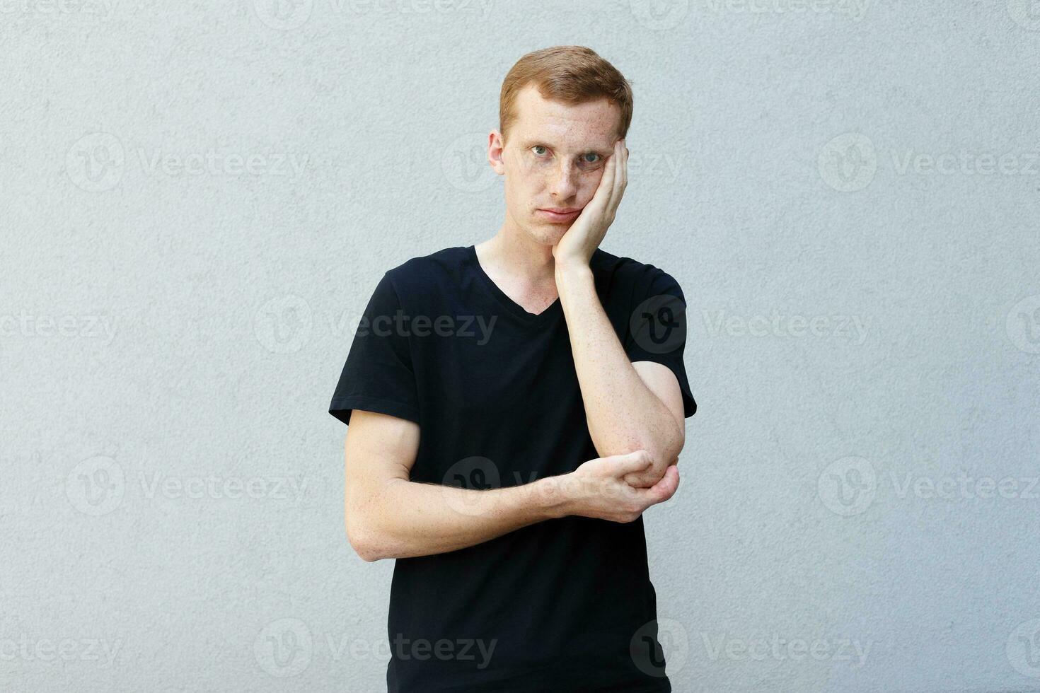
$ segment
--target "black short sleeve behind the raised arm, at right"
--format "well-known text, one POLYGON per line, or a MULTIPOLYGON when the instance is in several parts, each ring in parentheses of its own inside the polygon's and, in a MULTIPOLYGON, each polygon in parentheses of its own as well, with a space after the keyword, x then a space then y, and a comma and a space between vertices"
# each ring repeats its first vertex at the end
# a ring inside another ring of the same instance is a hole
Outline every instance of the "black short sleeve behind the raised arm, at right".
POLYGON ((668 272, 650 266, 649 279, 641 278, 633 289, 632 311, 625 336, 628 361, 652 361, 675 373, 682 391, 682 416, 697 412, 690 391, 682 353, 686 347, 686 299, 679 283, 668 272))

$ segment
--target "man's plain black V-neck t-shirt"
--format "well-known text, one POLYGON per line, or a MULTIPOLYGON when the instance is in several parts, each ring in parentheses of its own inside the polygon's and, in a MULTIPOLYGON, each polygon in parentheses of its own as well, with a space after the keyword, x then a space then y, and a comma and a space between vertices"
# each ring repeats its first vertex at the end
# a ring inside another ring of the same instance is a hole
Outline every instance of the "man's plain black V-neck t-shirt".
MULTIPOLYGON (((670 368, 693 416, 679 285, 599 248, 590 267, 629 361, 670 368)), ((472 245, 384 274, 329 412, 349 424, 354 408, 419 424, 412 481, 515 486, 599 457, 560 299, 528 313, 472 245)), ((672 690, 642 516, 572 515, 396 559, 389 611, 391 693, 672 690)))

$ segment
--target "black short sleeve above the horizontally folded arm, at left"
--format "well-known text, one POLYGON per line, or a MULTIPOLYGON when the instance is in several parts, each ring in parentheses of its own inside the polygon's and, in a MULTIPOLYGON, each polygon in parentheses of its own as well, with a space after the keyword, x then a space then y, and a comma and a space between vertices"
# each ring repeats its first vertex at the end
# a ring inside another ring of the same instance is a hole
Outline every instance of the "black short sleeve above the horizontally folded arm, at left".
POLYGON ((419 423, 418 395, 408 336, 395 325, 400 300, 384 274, 358 323, 350 351, 329 405, 344 424, 355 409, 387 414, 419 423))

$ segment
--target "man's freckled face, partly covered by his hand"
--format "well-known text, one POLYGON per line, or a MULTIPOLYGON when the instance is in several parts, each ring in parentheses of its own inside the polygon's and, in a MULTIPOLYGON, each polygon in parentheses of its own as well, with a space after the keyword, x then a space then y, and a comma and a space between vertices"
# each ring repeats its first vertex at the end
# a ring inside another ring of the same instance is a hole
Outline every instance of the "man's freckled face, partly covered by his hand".
POLYGON ((496 172, 505 176, 508 222, 554 245, 596 193, 618 139, 621 108, 606 99, 578 105, 547 101, 529 84, 516 100, 496 172), (575 210, 553 215, 544 210, 575 210))

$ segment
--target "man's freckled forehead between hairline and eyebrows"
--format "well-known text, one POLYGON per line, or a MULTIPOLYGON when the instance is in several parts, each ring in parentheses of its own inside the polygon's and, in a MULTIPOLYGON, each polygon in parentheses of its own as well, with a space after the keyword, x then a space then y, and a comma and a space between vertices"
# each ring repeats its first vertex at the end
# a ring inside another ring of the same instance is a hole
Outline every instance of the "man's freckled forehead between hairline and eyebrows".
POLYGON ((621 108, 606 99, 583 104, 565 104, 543 99, 538 87, 528 84, 516 99, 517 136, 551 140, 560 148, 599 148, 610 151, 617 139, 621 108))

